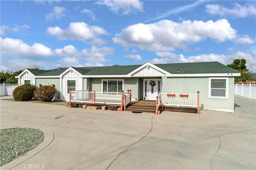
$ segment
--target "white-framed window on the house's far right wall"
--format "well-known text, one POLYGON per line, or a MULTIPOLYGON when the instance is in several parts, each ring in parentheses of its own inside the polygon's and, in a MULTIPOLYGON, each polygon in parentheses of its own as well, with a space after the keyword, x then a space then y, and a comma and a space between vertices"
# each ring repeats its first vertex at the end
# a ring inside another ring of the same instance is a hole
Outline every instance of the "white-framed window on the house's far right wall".
POLYGON ((209 78, 209 98, 228 98, 228 78, 209 78))

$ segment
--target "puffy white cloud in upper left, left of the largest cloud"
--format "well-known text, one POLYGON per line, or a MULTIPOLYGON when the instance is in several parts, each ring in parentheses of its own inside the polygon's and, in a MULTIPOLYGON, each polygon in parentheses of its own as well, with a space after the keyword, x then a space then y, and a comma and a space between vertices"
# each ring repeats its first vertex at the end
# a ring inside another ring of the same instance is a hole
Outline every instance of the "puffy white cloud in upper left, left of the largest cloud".
POLYGON ((57 36, 59 40, 66 39, 78 39, 84 41, 88 39, 94 39, 100 35, 110 35, 102 27, 95 25, 88 25, 84 22, 72 22, 67 29, 61 29, 60 27, 48 27, 46 33, 49 35, 57 36))

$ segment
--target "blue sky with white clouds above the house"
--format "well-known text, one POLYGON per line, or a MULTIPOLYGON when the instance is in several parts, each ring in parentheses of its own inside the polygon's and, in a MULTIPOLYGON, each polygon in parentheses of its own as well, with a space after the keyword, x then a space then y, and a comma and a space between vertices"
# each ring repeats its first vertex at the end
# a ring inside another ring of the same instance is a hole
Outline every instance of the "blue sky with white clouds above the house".
POLYGON ((1 0, 1 71, 246 59, 256 1, 1 0))

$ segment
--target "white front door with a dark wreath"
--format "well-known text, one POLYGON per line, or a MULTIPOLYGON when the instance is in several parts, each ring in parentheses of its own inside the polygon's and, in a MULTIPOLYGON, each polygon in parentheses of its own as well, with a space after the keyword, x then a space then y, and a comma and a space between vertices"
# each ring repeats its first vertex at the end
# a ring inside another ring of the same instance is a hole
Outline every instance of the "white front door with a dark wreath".
POLYGON ((146 100, 156 100, 158 91, 161 90, 161 79, 144 79, 143 94, 146 100))

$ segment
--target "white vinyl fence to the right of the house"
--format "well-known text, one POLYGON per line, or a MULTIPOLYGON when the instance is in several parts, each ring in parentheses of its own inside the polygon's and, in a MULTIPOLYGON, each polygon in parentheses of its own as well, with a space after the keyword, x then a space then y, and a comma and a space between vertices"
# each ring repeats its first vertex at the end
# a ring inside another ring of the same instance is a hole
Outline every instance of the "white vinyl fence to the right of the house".
POLYGON ((234 95, 256 100, 256 84, 235 84, 234 95))

